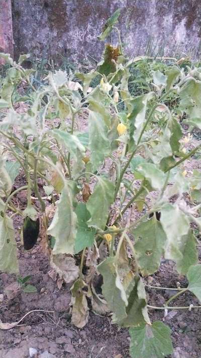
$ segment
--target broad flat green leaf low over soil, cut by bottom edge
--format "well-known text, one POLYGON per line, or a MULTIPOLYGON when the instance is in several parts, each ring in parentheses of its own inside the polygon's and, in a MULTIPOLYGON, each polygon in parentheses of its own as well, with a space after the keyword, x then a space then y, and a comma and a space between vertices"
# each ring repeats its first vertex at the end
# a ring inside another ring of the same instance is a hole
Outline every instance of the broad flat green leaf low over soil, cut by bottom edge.
POLYGON ((173 352, 171 330, 163 322, 129 329, 132 358, 161 358, 173 352))

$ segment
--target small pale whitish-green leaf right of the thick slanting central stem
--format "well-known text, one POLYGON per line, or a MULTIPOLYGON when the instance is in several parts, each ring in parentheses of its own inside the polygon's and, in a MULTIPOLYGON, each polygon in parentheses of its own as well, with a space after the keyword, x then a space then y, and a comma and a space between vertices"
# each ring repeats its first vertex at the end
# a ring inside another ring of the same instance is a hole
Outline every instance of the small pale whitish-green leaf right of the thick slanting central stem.
POLYGON ((165 182, 165 174, 152 163, 141 163, 136 171, 149 181, 153 189, 162 189, 165 182))

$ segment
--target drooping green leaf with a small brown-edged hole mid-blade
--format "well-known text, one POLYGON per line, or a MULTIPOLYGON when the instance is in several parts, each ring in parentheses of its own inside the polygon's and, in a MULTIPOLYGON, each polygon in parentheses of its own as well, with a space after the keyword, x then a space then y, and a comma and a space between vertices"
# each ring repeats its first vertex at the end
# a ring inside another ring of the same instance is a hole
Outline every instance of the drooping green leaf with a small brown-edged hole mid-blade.
POLYGON ((133 230, 136 240, 135 251, 140 271, 143 276, 151 275, 160 266, 166 235, 160 222, 152 219, 141 223, 133 230))

